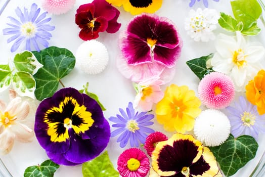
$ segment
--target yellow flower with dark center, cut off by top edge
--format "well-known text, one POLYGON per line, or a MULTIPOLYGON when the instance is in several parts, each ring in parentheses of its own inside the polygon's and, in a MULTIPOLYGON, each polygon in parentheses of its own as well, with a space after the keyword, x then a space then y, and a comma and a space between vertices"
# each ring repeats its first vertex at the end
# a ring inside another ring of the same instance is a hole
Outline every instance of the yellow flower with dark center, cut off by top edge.
POLYGON ((162 0, 106 0, 106 2, 119 7, 123 5, 123 9, 130 12, 132 15, 141 14, 143 12, 154 13, 161 8, 162 5, 162 0))

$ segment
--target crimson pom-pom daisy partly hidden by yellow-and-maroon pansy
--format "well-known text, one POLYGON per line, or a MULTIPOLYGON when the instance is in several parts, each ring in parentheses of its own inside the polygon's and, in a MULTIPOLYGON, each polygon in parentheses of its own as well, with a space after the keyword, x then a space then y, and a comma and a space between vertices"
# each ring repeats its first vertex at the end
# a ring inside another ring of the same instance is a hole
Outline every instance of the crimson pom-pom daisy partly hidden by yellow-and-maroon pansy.
POLYGON ((164 135, 162 132, 156 131, 147 136, 144 148, 147 154, 151 157, 152 152, 155 150, 155 146, 158 142, 168 140, 167 136, 164 135))

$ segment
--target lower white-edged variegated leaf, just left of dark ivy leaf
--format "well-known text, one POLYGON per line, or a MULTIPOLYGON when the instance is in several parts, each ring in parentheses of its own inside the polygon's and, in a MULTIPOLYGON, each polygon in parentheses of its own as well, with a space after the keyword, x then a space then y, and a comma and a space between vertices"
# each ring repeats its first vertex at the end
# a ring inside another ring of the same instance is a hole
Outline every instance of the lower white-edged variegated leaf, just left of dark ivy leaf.
POLYGON ((35 80, 31 74, 24 71, 12 75, 13 89, 22 97, 28 96, 34 99, 35 80))

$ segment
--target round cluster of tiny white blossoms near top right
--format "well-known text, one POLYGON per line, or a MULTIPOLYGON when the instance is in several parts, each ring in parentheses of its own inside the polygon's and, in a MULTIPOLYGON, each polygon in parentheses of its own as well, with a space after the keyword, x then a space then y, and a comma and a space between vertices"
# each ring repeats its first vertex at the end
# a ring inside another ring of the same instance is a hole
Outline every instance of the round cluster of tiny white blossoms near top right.
POLYGON ((214 9, 191 9, 189 17, 185 20, 185 29, 195 41, 213 40, 215 35, 212 31, 216 29, 219 17, 219 13, 214 9))

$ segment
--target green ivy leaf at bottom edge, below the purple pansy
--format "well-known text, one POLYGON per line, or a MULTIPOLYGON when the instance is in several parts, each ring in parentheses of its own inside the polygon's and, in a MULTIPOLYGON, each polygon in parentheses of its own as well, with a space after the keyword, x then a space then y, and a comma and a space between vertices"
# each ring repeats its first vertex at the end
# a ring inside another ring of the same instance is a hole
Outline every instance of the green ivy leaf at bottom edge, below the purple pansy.
POLYGON ((24 177, 53 177, 60 165, 52 160, 46 160, 40 165, 29 166, 25 169, 24 177))

